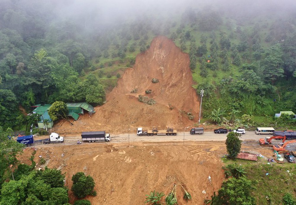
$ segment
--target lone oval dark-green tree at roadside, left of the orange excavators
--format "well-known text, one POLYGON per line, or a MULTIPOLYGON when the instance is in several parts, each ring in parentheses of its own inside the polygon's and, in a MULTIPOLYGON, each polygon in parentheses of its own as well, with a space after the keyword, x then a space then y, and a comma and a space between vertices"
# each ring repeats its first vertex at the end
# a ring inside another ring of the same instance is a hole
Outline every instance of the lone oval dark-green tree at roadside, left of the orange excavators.
POLYGON ((239 134, 229 132, 225 144, 229 157, 236 158, 242 146, 242 140, 239 140, 239 134))

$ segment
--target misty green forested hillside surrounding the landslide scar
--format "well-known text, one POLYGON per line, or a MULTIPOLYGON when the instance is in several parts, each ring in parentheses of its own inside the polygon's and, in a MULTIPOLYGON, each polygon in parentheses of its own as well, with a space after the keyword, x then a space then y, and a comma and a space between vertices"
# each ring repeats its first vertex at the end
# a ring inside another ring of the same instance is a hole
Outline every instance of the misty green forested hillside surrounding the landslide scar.
POLYGON ((268 125, 296 111, 295 3, 154 3, 134 11, 119 2, 1 1, 0 126, 22 129, 20 107, 38 103, 102 105, 157 35, 189 53, 204 118, 215 110, 268 125))

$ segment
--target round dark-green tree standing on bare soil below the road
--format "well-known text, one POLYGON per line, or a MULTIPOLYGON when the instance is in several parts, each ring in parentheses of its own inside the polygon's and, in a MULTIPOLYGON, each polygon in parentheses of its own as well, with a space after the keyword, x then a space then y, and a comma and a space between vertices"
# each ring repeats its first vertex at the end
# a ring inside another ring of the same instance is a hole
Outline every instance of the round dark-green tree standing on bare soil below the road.
POLYGON ((87 195, 96 196, 94 190, 94 179, 91 176, 85 176, 83 172, 77 172, 72 176, 73 185, 71 191, 77 198, 83 198, 87 195))

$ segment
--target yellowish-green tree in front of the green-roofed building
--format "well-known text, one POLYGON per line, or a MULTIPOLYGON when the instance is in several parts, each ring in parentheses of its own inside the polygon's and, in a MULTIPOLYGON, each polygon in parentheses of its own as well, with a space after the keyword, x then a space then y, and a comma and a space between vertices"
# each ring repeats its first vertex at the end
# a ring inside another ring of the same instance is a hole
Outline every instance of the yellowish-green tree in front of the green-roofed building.
POLYGON ((48 110, 48 114, 53 121, 63 118, 70 122, 69 118, 67 117, 68 112, 69 110, 67 109, 67 105, 65 104, 65 102, 62 101, 56 101, 52 103, 48 110))

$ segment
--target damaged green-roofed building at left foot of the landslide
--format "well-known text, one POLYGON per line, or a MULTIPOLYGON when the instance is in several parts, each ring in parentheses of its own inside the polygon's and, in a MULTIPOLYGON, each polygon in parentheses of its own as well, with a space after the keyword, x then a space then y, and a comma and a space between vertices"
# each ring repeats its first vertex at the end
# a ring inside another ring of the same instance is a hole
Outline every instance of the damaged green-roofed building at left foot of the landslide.
MULTIPOLYGON (((95 113, 94 107, 87 102, 67 102, 68 108, 67 116, 72 117, 74 120, 78 120, 79 115, 83 115, 86 111, 90 114, 95 113)), ((33 105, 35 108, 32 113, 37 113, 40 115, 38 121, 39 128, 51 128, 54 124, 53 120, 49 117, 48 110, 51 104, 38 104, 33 105)))

